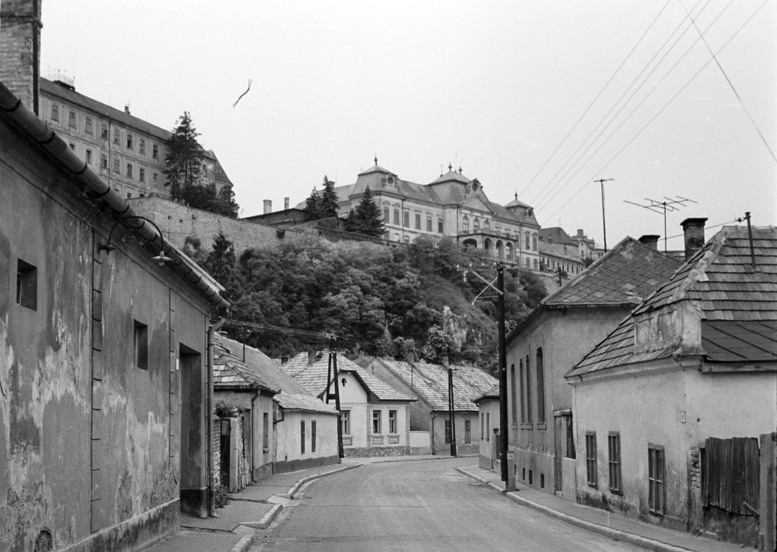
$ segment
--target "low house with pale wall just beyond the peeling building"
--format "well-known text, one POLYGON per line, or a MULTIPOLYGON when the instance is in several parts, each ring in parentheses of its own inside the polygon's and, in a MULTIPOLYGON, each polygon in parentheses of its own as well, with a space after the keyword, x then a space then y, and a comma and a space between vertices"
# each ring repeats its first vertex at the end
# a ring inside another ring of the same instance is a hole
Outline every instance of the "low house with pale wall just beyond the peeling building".
MULTIPOLYGON (((232 423, 240 425, 235 431, 245 446, 232 450, 246 453, 240 461, 231 460, 235 468, 224 465, 231 488, 270 474, 340 462, 336 409, 310 394, 259 349, 221 335, 216 338, 214 395, 222 407, 239 407, 233 414, 239 422, 232 423), (240 462, 250 467, 249 478, 240 462), (242 481, 236 474, 242 474, 242 481)), ((232 440, 239 443, 236 437, 232 440)))

